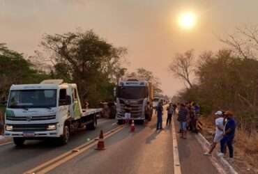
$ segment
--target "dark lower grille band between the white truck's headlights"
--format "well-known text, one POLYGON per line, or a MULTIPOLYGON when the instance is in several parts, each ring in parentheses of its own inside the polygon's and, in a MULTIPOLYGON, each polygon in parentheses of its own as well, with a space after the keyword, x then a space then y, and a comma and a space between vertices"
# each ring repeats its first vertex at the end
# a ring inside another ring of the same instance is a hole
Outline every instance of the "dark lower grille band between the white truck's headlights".
POLYGON ((12 125, 13 132, 42 132, 47 131, 48 124, 35 124, 35 125, 12 125))

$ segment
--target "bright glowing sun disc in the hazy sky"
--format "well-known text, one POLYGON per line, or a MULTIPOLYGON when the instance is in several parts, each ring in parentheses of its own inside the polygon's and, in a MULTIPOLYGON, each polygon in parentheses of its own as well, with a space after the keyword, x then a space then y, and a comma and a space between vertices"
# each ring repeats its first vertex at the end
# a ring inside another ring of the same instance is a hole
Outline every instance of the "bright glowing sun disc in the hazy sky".
POLYGON ((183 29, 192 29, 196 24, 196 15, 192 12, 182 13, 179 16, 179 26, 183 29))

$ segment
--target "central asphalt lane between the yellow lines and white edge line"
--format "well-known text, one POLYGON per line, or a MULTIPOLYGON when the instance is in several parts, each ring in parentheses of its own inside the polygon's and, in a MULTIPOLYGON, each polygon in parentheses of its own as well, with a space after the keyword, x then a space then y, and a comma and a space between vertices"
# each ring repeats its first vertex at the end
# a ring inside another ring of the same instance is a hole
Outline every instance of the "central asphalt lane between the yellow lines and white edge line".
POLYGON ((106 150, 94 149, 75 157, 50 173, 174 173, 171 127, 155 131, 155 119, 114 134, 105 141, 106 150))

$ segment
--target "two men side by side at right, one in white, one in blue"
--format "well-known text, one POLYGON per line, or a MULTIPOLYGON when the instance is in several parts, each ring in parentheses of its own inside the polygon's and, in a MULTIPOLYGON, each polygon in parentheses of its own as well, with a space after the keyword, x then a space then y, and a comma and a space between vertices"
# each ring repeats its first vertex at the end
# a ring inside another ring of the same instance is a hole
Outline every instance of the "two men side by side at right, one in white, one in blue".
POLYGON ((204 155, 210 156, 216 145, 220 143, 220 152, 218 156, 224 157, 229 149, 229 160, 234 161, 234 136, 236 130, 236 122, 232 111, 217 111, 215 113, 215 136, 211 149, 205 152, 204 155), (226 147, 227 145, 227 147, 226 147))

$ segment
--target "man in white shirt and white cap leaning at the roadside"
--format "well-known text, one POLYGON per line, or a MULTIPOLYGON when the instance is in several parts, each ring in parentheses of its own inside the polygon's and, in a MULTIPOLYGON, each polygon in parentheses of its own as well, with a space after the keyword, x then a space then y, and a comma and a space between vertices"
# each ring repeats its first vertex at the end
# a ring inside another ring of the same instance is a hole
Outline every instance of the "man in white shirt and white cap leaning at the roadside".
POLYGON ((213 143, 211 145, 211 149, 208 152, 205 152, 204 155, 206 156, 211 156, 211 153, 215 149, 217 143, 220 143, 220 140, 223 138, 223 133, 224 133, 224 116, 222 111, 217 111, 215 113, 216 119, 215 119, 215 136, 213 139, 213 143))

